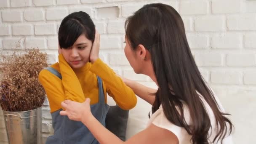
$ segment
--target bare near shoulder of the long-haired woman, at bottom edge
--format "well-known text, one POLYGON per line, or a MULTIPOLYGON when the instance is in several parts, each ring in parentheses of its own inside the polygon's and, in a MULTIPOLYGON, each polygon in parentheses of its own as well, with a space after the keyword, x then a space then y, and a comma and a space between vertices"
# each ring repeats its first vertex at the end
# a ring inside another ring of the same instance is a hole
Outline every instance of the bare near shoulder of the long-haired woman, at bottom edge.
POLYGON ((179 140, 174 133, 154 124, 149 125, 145 130, 137 133, 127 144, 179 144, 179 140))

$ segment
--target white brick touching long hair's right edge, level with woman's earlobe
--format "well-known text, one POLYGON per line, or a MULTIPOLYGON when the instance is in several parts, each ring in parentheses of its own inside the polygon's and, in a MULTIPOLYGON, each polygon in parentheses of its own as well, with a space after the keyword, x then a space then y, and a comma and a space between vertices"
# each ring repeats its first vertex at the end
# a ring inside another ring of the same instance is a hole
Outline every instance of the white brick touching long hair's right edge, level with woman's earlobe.
POLYGON ((222 66, 223 56, 221 53, 196 53, 195 61, 197 66, 222 66))

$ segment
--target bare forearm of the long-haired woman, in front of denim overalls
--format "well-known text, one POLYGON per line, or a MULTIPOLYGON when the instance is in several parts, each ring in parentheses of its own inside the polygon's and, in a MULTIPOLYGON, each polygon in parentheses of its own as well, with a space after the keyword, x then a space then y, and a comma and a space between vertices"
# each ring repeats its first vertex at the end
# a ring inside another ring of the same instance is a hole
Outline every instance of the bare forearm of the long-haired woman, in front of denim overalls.
POLYGON ((91 131, 93 136, 99 141, 100 144, 123 144, 124 142, 120 140, 115 134, 111 133, 107 128, 105 128, 99 121, 93 116, 85 118, 82 123, 91 131))

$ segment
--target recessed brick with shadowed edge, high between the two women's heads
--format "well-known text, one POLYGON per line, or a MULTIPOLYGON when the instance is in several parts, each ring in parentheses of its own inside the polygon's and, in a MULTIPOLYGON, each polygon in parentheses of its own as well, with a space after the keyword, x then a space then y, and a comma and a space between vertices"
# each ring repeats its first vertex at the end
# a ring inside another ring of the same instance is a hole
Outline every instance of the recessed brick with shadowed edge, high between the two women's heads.
POLYGON ((97 17, 98 18, 118 18, 119 17, 119 8, 117 6, 97 8, 97 17))

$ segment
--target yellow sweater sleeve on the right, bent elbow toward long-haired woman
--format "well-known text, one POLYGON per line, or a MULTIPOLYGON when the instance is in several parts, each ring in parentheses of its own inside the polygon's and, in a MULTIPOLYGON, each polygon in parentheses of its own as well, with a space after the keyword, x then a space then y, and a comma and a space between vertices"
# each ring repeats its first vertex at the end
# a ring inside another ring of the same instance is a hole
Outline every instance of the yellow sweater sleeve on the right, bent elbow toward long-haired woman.
POLYGON ((97 59, 92 64, 90 71, 101 77, 106 84, 107 93, 112 96, 119 107, 132 109, 136 106, 137 98, 134 92, 101 59, 97 59))

